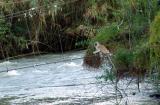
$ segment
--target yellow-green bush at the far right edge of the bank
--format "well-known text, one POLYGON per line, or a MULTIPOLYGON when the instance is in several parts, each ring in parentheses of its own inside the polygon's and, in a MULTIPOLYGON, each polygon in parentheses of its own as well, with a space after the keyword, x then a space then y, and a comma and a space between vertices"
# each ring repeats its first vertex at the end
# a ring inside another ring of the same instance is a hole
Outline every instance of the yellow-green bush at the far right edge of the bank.
POLYGON ((156 86, 156 89, 159 90, 160 83, 160 12, 157 13, 154 21, 150 27, 150 37, 149 37, 149 46, 150 46, 150 68, 151 68, 151 78, 153 83, 156 86))

